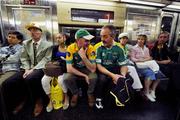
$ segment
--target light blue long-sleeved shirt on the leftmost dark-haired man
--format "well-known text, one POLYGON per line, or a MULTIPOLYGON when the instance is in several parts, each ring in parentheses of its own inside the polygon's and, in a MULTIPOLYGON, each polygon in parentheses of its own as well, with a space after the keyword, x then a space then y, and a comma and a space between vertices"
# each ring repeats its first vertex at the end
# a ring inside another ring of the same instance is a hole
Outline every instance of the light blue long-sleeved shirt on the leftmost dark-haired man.
POLYGON ((0 61, 3 72, 20 70, 21 49, 22 45, 20 44, 0 48, 0 61))

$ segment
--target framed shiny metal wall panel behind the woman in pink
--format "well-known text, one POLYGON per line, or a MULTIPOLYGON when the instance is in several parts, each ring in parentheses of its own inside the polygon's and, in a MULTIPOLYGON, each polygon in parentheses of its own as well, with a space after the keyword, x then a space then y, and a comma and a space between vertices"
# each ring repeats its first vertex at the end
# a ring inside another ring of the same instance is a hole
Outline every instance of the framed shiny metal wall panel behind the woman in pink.
POLYGON ((159 10, 127 8, 124 32, 130 34, 133 43, 138 34, 146 34, 148 41, 153 42, 160 32, 160 15, 159 10))

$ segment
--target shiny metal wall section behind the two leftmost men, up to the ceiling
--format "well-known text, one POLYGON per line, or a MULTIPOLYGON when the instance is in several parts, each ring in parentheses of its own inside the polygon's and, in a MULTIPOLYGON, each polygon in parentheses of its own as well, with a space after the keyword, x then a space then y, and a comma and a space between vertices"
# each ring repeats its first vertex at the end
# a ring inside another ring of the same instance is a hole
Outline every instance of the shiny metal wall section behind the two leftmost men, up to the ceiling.
POLYGON ((3 45, 6 44, 5 36, 9 30, 19 30, 26 36, 25 38, 28 38, 28 31, 24 29, 26 22, 39 22, 43 26, 44 37, 48 40, 53 40, 53 34, 58 32, 55 0, 36 0, 36 5, 24 5, 23 0, 2 0, 0 12, 3 45), (38 15, 38 13, 41 19, 38 19, 38 16, 33 17, 33 15, 38 15), (29 15, 31 15, 32 19, 29 15))

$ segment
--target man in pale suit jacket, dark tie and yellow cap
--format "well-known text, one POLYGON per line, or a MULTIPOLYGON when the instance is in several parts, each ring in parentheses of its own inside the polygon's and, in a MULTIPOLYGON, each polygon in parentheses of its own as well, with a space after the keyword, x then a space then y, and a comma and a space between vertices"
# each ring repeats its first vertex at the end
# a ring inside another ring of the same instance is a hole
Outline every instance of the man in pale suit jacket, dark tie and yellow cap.
POLYGON ((42 98, 46 96, 41 86, 41 79, 44 75, 43 68, 45 64, 51 60, 52 43, 42 39, 42 29, 39 25, 32 23, 27 25, 26 28, 32 38, 23 42, 20 57, 22 71, 8 79, 5 86, 8 89, 8 84, 12 81, 25 81, 27 85, 25 90, 22 90, 21 87, 16 89, 21 89, 22 92, 27 89, 30 98, 28 100, 31 100, 32 106, 35 104, 33 113, 34 116, 37 116, 43 108, 42 100, 44 99, 42 98))

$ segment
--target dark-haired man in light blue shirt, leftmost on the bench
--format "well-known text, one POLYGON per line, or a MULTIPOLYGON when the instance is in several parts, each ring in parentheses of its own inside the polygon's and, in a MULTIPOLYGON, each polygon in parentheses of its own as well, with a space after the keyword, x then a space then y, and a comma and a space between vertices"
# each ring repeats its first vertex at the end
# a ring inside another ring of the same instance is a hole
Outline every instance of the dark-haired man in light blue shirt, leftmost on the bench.
POLYGON ((18 31, 10 31, 7 36, 8 46, 0 48, 0 85, 7 78, 20 71, 20 53, 23 35, 18 31))

